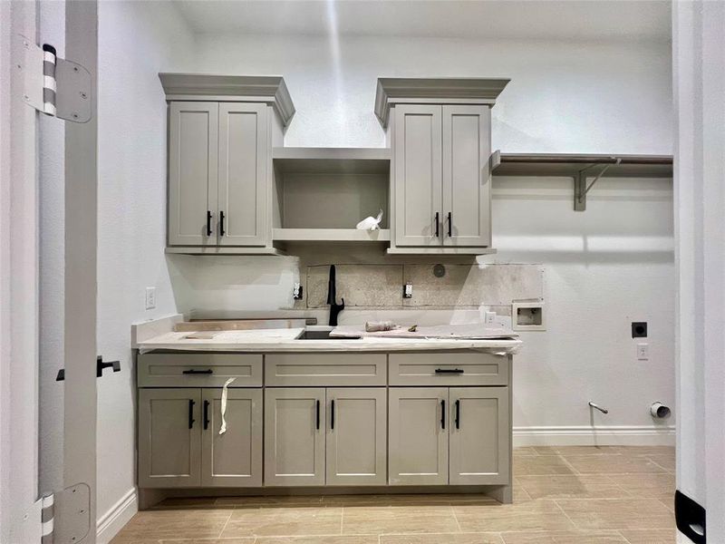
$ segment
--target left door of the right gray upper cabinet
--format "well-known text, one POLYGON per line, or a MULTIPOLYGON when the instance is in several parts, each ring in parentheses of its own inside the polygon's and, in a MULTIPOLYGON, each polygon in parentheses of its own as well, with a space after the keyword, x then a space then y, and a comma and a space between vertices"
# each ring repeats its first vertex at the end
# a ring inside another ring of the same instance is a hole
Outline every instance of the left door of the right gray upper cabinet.
POLYGON ((440 116, 441 106, 395 106, 395 243, 398 246, 440 246, 441 243, 440 116))

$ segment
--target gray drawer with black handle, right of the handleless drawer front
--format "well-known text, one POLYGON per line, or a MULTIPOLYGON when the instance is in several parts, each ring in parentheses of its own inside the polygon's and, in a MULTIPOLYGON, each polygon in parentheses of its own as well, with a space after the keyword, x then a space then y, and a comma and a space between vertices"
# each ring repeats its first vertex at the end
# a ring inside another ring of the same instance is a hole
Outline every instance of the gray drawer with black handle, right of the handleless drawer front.
POLYGON ((507 385, 508 357, 482 353, 391 354, 391 385, 507 385))

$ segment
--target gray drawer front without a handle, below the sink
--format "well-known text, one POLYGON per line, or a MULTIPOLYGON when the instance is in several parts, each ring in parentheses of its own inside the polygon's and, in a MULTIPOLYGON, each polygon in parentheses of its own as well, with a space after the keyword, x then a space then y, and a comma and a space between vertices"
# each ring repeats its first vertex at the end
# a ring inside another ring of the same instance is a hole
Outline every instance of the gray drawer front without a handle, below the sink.
POLYGON ((385 385, 383 354, 265 355, 265 385, 385 385))

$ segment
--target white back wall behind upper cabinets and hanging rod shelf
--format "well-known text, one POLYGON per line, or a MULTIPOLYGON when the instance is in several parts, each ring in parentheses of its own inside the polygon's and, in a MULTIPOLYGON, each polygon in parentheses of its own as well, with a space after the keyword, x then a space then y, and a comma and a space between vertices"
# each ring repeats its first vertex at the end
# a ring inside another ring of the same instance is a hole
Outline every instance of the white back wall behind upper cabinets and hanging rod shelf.
MULTIPOLYGON (((512 79, 493 110, 494 148, 672 152, 669 44, 198 34, 197 70, 283 74, 297 109, 288 146, 384 145, 372 112, 379 75, 476 75, 512 79)), ((602 180, 583 213, 572 191, 568 179, 494 181, 499 253, 487 260, 546 268, 548 330, 523 335, 517 356, 517 441, 672 442, 674 418, 647 412, 674 404, 672 182, 602 180), (643 320, 650 360, 638 362, 630 323, 643 320), (590 420, 590 399, 609 415, 590 420)), ((288 258, 169 266, 184 310, 285 307, 296 276, 288 258)))

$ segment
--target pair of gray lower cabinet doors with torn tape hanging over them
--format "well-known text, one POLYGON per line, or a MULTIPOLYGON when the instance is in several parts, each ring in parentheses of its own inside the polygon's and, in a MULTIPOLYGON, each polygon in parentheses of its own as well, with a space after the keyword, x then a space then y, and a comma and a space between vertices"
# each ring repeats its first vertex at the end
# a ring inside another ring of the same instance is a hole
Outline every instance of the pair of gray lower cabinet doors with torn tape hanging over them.
POLYGON ((221 427, 220 388, 139 390, 139 486, 262 485, 262 390, 229 389, 221 427))

